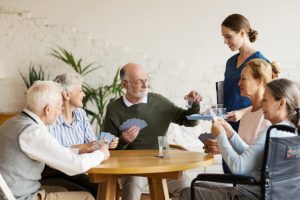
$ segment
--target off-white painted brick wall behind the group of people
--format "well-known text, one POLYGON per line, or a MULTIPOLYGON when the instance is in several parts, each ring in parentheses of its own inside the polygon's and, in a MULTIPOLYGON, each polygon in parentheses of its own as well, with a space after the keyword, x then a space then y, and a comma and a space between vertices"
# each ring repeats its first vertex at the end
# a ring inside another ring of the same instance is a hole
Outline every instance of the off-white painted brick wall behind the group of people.
POLYGON ((177 104, 185 104, 190 89, 214 102, 214 82, 223 78, 233 54, 220 24, 235 12, 258 30, 256 47, 282 64, 283 76, 300 75, 298 0, 0 0, 0 6, 0 61, 9 73, 0 80, 2 111, 24 105, 17 69, 24 72, 33 62, 49 66, 52 76, 66 70, 46 55, 56 44, 106 66, 90 82, 109 82, 116 67, 141 62, 152 73, 152 88, 177 104), (31 15, 18 14, 24 10, 31 15))

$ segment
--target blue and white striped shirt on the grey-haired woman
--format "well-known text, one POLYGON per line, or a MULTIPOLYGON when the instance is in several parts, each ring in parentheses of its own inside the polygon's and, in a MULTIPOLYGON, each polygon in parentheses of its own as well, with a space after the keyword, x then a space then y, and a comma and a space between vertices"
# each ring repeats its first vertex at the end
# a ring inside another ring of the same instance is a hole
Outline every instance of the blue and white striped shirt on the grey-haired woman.
POLYGON ((51 135, 65 147, 97 140, 86 112, 81 108, 76 108, 73 111, 72 124, 67 124, 60 115, 56 123, 53 126, 48 126, 48 129, 51 135))

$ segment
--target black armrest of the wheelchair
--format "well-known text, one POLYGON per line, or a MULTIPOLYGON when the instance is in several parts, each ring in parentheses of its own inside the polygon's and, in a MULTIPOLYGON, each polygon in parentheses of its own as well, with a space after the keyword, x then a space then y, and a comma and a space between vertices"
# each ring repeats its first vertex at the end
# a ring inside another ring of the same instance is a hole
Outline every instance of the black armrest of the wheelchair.
POLYGON ((195 183, 196 181, 234 183, 234 184, 243 184, 243 185, 259 184, 256 182, 255 178, 251 176, 233 175, 233 174, 198 174, 198 176, 193 180, 193 183, 195 183))

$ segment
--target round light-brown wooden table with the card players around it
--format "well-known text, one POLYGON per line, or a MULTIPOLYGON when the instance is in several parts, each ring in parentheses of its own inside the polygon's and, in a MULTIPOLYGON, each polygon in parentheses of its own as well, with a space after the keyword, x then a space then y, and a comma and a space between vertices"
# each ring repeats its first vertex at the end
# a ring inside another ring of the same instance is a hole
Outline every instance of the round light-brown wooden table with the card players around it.
POLYGON ((152 200, 169 199, 166 179, 180 179, 187 169, 211 165, 210 154, 169 150, 164 158, 157 157, 158 150, 113 150, 107 161, 88 171, 90 181, 101 184, 98 200, 114 200, 117 178, 121 176, 144 176, 148 178, 152 200))

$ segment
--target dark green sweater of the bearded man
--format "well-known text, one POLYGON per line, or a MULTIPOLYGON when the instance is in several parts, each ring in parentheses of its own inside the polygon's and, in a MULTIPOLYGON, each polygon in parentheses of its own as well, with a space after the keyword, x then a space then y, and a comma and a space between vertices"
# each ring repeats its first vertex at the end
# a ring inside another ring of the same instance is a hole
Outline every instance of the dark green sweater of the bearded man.
POLYGON ((199 104, 193 104, 192 108, 185 110, 156 93, 148 93, 146 104, 140 103, 130 107, 127 107, 120 97, 107 107, 104 131, 120 137, 120 125, 128 119, 138 118, 144 120, 147 126, 140 130, 137 138, 130 144, 120 137, 117 149, 158 149, 157 136, 166 135, 171 122, 195 126, 198 121, 188 121, 185 116, 199 113, 199 110, 199 104))

